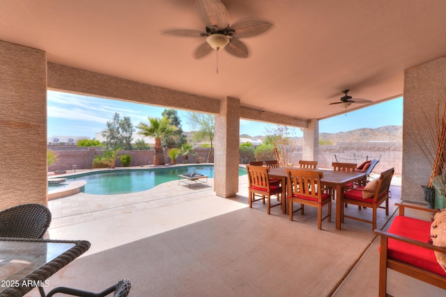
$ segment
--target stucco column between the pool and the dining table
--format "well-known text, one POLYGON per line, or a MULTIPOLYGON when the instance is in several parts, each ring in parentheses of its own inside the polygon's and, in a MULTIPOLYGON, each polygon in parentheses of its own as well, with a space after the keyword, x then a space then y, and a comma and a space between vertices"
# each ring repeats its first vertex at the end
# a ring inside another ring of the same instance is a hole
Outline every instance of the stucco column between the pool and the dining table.
POLYGON ((233 197, 238 192, 240 99, 226 97, 215 115, 214 191, 233 197))

